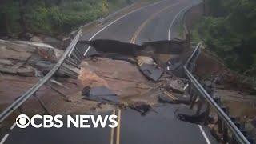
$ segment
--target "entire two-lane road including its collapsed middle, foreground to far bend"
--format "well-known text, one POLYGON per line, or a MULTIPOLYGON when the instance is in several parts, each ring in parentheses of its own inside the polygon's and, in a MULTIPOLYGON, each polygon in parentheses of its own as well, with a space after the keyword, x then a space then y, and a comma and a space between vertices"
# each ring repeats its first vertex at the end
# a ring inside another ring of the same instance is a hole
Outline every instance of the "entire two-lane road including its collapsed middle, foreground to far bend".
MULTIPOLYGON (((206 143, 202 131, 215 143, 207 127, 178 118, 182 107, 189 110, 182 104, 188 101, 182 66, 190 51, 187 40, 166 40, 166 31, 190 3, 156 2, 82 35, 69 64, 54 75, 55 82, 38 90, 46 109, 64 115, 118 114, 119 130, 114 130, 117 141, 113 142, 117 144, 206 143)), ((47 73, 50 65, 45 63, 37 66, 47 73)), ((26 103, 22 110, 26 113, 31 107, 26 103)), ((21 130, 16 126, 6 143, 111 143, 112 130, 21 130)))

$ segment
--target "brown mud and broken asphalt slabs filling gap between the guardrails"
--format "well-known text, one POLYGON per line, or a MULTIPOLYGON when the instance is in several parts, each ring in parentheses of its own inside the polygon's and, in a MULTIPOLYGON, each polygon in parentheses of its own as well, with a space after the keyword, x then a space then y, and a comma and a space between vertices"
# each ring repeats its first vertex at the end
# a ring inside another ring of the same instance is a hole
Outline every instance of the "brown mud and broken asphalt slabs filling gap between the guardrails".
POLYGON ((122 103, 142 114, 146 110, 138 108, 138 104, 154 105, 158 100, 186 103, 188 99, 183 98, 186 79, 173 74, 185 59, 178 58, 186 48, 185 43, 162 41, 138 46, 113 40, 79 42, 81 48, 86 47, 82 44, 90 45, 90 50, 97 52, 81 64, 78 78, 85 86, 82 98, 122 103), (92 90, 102 93, 93 94, 92 90))

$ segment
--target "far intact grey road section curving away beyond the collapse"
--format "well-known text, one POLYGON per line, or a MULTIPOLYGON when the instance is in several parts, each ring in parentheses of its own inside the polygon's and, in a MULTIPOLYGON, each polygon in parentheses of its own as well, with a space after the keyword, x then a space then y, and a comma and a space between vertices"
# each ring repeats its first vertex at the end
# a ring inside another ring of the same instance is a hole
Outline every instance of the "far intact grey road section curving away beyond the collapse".
POLYGON ((131 11, 113 22, 99 26, 81 39, 112 39, 122 42, 142 44, 158 40, 168 40, 170 25, 175 16, 192 0, 163 0, 131 11))

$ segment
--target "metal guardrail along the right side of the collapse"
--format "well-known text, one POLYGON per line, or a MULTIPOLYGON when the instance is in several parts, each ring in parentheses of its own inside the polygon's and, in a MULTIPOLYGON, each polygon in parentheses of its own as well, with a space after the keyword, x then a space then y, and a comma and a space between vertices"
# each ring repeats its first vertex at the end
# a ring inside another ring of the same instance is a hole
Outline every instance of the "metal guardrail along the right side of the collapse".
POLYGON ((185 70, 185 74, 187 78, 189 78, 190 83, 196 88, 199 94, 201 94, 202 98, 206 100, 210 104, 211 107, 216 110, 218 117, 222 119, 222 122, 224 125, 227 126, 227 128, 230 130, 230 132, 233 134, 235 140, 239 143, 245 143, 250 144, 250 142, 247 140, 247 138, 242 134, 242 132, 238 129, 238 127, 232 122, 228 114, 226 114, 220 106, 218 106, 218 103, 214 101, 214 98, 210 96, 210 94, 207 93, 207 91, 203 88, 203 86, 198 82, 196 78, 194 78, 194 75, 192 74, 192 70, 194 69, 194 62, 196 58, 198 57, 198 54, 200 54, 200 48, 202 46, 202 42, 198 43, 198 46, 195 48, 193 54, 191 54, 190 58, 186 62, 185 66, 183 67, 185 70))

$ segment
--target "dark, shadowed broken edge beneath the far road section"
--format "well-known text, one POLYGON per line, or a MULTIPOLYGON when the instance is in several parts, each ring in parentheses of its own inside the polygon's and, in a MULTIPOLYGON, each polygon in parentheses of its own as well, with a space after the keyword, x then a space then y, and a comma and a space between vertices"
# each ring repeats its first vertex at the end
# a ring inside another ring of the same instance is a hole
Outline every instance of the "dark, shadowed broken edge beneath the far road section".
POLYGON ((156 41, 136 45, 116 40, 98 39, 94 41, 79 41, 79 44, 87 44, 98 51, 107 53, 152 56, 152 54, 182 54, 186 41, 156 41))

